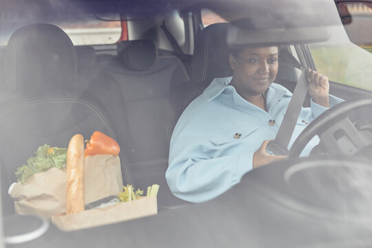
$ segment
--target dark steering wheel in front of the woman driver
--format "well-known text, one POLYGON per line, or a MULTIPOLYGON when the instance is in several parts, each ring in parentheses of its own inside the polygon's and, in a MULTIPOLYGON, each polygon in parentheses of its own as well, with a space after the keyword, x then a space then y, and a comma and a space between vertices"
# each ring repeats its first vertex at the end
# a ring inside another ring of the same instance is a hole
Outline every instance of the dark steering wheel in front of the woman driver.
POLYGON ((348 117, 351 112, 362 107, 371 107, 372 110, 372 98, 362 97, 344 101, 320 114, 298 136, 289 150, 288 158, 298 158, 307 143, 316 135, 319 136, 320 145, 327 153, 353 155, 371 145, 372 141, 366 141, 360 132, 364 130, 372 132, 372 126, 358 127, 348 117))

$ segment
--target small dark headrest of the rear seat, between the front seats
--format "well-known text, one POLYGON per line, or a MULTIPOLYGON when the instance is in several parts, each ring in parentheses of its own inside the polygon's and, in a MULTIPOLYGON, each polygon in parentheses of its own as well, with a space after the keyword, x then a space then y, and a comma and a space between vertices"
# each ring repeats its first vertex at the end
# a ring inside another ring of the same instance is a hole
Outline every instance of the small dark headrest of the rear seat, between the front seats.
POLYGON ((131 70, 146 70, 158 59, 156 43, 149 39, 121 41, 117 52, 125 66, 131 70))

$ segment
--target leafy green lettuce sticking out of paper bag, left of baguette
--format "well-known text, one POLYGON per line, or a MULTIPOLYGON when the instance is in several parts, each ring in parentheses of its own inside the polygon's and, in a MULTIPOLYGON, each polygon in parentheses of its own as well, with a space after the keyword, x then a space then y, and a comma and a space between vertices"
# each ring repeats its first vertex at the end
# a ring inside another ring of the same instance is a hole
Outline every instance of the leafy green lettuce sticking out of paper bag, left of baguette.
POLYGON ((25 183, 25 180, 38 172, 46 172, 52 167, 62 169, 66 165, 67 148, 50 147, 42 145, 35 152, 36 156, 28 158, 27 165, 17 168, 15 175, 17 181, 25 183))

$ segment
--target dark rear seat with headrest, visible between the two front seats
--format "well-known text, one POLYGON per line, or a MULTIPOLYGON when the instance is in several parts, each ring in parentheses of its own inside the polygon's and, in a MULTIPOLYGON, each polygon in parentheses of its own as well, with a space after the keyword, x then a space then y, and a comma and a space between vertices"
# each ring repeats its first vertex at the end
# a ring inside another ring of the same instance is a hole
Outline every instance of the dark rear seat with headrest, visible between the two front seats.
POLYGON ((185 205, 172 195, 165 180, 172 134, 172 123, 167 123, 169 91, 172 75, 176 74, 178 81, 189 81, 185 66, 174 54, 157 50, 152 40, 122 41, 117 53, 108 61, 97 56, 105 73, 88 89, 101 99, 114 120, 134 186, 161 185, 160 209, 185 205))

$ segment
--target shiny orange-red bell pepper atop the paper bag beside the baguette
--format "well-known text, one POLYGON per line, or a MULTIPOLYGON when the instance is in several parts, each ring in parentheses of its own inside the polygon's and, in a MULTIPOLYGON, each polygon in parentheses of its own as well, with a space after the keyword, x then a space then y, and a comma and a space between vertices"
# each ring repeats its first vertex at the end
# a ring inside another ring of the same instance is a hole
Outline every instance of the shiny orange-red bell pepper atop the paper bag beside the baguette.
POLYGON ((118 155, 120 147, 113 138, 103 134, 102 132, 96 131, 90 137, 90 141, 87 142, 85 147, 85 156, 93 156, 96 154, 110 154, 118 155))

